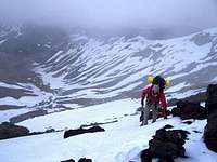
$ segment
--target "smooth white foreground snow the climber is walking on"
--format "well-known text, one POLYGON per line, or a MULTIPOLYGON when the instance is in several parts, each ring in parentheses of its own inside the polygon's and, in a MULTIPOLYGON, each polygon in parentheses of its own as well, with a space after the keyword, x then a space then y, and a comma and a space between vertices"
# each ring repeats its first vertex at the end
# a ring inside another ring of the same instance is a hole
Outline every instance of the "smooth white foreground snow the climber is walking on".
POLYGON ((98 122, 104 123, 101 126, 105 132, 82 134, 66 139, 63 138, 64 132, 59 132, 0 140, 1 161, 60 162, 67 159, 77 161, 86 157, 91 158, 93 162, 140 162, 140 151, 148 148, 155 131, 166 124, 191 133, 184 145, 189 158, 178 158, 176 162, 217 161, 217 153, 209 151, 203 143, 205 120, 195 120, 188 125, 179 118, 159 118, 157 122, 149 121, 149 125, 141 127, 139 113, 136 113, 139 106, 140 100, 123 99, 21 122, 20 125, 28 126, 31 132, 44 131, 48 127, 77 129, 82 124, 98 122))

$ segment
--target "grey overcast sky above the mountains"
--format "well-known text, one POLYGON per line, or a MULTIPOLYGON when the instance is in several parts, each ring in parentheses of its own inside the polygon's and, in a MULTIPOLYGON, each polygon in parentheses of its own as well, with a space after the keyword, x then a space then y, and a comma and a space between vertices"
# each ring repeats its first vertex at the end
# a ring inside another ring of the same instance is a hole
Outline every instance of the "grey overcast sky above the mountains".
POLYGON ((217 26, 217 0, 1 0, 1 22, 101 28, 217 26))

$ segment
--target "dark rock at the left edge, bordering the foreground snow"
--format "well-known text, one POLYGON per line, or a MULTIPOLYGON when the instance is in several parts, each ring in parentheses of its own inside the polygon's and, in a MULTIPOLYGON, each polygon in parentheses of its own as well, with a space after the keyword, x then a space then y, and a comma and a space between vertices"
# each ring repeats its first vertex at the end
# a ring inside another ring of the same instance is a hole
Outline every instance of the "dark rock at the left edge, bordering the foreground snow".
POLYGON ((24 126, 17 126, 9 122, 3 122, 0 125, 0 139, 26 136, 28 134, 29 130, 24 126))

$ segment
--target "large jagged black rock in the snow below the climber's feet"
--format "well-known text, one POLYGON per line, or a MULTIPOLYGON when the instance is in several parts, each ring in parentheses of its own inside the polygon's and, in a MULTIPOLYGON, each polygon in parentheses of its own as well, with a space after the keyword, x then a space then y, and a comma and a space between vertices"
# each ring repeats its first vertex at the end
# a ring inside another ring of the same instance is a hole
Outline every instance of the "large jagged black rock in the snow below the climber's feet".
POLYGON ((183 130, 157 130, 153 139, 149 141, 149 149, 141 152, 141 159, 143 162, 151 162, 150 158, 159 158, 161 162, 174 162, 177 157, 186 158, 183 145, 188 134, 189 132, 183 130))

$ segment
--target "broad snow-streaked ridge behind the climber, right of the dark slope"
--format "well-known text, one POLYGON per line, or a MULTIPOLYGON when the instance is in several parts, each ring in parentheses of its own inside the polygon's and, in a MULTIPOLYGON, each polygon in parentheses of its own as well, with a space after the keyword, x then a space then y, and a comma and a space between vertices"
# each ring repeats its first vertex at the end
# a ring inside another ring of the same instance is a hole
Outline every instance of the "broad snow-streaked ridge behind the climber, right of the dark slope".
POLYGON ((169 98, 204 92, 217 81, 217 28, 155 41, 141 36, 71 39, 67 48, 35 68, 44 83, 59 90, 59 103, 139 96, 149 73, 171 80, 169 98))

